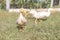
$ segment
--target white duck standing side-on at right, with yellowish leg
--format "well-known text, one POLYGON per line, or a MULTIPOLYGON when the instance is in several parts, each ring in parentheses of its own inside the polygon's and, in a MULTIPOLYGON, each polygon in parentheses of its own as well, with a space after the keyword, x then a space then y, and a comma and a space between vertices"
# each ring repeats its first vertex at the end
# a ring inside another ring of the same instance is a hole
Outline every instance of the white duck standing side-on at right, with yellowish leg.
POLYGON ((50 8, 48 9, 48 11, 41 11, 41 12, 37 12, 36 10, 31 10, 30 13, 34 18, 36 18, 35 20, 36 24, 37 24, 37 19, 43 19, 45 17, 49 17, 51 14, 50 8))

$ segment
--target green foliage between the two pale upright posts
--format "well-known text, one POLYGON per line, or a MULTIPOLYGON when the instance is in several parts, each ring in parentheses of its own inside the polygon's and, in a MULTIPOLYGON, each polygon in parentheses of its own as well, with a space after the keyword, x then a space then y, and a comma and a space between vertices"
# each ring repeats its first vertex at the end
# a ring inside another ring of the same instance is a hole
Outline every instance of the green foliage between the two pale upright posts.
POLYGON ((39 1, 39 0, 11 0, 10 4, 13 5, 18 5, 20 7, 24 8, 48 8, 50 6, 50 1, 45 0, 45 1, 39 1))

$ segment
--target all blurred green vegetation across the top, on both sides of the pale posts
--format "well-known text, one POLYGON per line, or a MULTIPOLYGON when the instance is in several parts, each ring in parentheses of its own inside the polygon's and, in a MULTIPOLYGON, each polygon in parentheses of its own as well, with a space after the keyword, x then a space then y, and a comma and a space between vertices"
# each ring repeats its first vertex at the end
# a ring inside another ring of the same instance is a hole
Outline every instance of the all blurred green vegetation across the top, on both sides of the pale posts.
MULTIPOLYGON (((50 2, 51 0, 10 0, 10 8, 21 8, 22 6, 24 8, 49 8, 50 2)), ((55 3, 54 5, 58 4, 55 3)), ((5 8, 6 8, 6 0, 0 0, 0 9, 5 8)))

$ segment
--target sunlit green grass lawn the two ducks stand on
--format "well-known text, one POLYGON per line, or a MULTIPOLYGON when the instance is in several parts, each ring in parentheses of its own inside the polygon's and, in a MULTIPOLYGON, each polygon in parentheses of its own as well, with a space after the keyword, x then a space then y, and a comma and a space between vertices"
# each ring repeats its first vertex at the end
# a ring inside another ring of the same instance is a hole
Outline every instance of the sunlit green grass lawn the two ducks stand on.
POLYGON ((52 14, 37 25, 28 17, 26 26, 19 31, 16 27, 18 15, 0 12, 0 40, 60 40, 60 13, 52 14))

